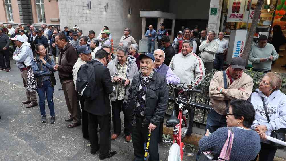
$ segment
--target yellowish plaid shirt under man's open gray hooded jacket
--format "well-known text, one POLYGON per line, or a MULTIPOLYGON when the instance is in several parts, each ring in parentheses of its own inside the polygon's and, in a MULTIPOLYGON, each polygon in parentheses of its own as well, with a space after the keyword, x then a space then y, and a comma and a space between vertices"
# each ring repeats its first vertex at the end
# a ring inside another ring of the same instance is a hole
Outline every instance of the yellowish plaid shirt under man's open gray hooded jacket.
MULTIPOLYGON (((121 77, 122 79, 127 79, 127 69, 128 69, 128 59, 126 59, 126 63, 121 65, 117 64, 117 77, 121 77)), ((123 100, 126 94, 126 86, 121 82, 118 82, 115 86, 115 96, 117 100, 123 100)))

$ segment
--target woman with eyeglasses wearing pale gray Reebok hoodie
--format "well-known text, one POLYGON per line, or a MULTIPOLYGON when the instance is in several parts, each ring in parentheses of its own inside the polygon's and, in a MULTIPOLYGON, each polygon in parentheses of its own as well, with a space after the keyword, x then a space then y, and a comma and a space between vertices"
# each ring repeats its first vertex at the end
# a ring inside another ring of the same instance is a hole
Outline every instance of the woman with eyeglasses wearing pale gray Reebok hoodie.
POLYGON ((279 90, 281 84, 282 77, 280 75, 268 72, 261 79, 259 88, 249 98, 256 111, 251 128, 261 138, 259 161, 272 161, 277 150, 270 144, 270 141, 266 140, 266 136, 270 136, 271 130, 286 128, 286 95, 279 90), (262 99, 265 101, 270 122, 267 120, 262 99))

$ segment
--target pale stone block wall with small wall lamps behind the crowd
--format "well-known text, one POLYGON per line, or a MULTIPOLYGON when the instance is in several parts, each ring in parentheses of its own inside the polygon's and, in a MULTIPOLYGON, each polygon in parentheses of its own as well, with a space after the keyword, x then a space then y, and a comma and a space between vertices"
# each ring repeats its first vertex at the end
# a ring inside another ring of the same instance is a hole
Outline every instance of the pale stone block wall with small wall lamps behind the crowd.
POLYGON ((168 0, 96 0, 91 1, 90 10, 87 7, 88 0, 60 0, 58 3, 61 29, 78 25, 84 35, 87 36, 88 31, 93 30, 97 37, 102 27, 108 26, 115 46, 123 36, 125 27, 131 28, 131 35, 139 45, 142 31, 140 11, 169 11, 168 0), (108 11, 104 9, 106 3, 108 11), (128 13, 130 7, 131 14, 128 13))

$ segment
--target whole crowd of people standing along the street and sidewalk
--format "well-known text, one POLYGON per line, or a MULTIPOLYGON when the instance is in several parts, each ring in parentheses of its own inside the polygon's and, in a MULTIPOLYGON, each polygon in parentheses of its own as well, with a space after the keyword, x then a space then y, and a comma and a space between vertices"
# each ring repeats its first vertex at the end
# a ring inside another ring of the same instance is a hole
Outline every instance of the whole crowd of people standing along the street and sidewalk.
MULTIPOLYGON (((111 34, 107 26, 95 38, 94 31, 84 36, 77 25, 70 30, 66 26, 61 31, 59 26, 43 24, 40 29, 35 29, 28 23, 28 32, 21 24, 16 29, 10 25, 7 29, 0 28, 0 70, 11 69, 9 55, 6 55, 11 40, 15 45, 13 59, 17 62, 24 86, 27 87, 30 68, 36 77, 41 122, 47 122, 47 99, 51 124, 56 121, 53 103, 56 80, 53 73, 58 71, 70 114, 65 119, 71 122, 67 128, 82 125, 82 135, 90 140, 91 153, 98 151, 100 159, 116 154, 116 151, 110 151, 110 140, 116 140, 121 134, 120 112, 123 111, 124 138, 126 142, 132 139, 134 160, 144 160, 144 143, 151 132, 149 160, 159 160, 158 143, 168 106, 167 84, 187 83, 190 88, 196 88, 204 80, 205 69, 215 67, 219 71, 213 75, 209 85, 211 109, 206 135, 199 142, 197 160, 205 151, 212 151, 217 159, 227 138, 226 127, 235 133, 231 160, 254 160, 258 153, 259 161, 273 160, 277 149, 265 140, 265 136, 269 136, 271 130, 286 128, 286 95, 279 90, 281 76, 270 72, 271 61, 278 56, 264 35, 250 51, 249 60, 253 62, 254 69, 266 73, 259 89, 252 93, 253 79, 244 72, 245 62, 241 57, 234 57, 227 69, 223 69, 228 50, 223 32, 219 32, 219 38, 215 39, 214 31, 202 30, 199 34, 197 28, 186 28, 179 31, 171 42, 163 23, 157 32, 150 25, 145 34, 148 53, 140 54, 136 40, 130 35, 131 29, 125 28, 116 54, 112 54, 111 34), (155 39, 158 42, 156 50, 155 39), (95 99, 84 98, 78 92, 78 73, 87 63, 94 65, 95 99), (264 102, 265 108, 271 111, 270 120, 263 110, 264 102), (113 133, 110 136, 111 112, 113 133), (247 148, 242 150, 242 146, 247 148)), ((26 89, 26 96, 27 100, 22 103, 28 104, 27 108, 38 105, 36 92, 26 89)), ((194 114, 191 108, 188 111, 191 118, 186 135, 190 136, 194 114)))

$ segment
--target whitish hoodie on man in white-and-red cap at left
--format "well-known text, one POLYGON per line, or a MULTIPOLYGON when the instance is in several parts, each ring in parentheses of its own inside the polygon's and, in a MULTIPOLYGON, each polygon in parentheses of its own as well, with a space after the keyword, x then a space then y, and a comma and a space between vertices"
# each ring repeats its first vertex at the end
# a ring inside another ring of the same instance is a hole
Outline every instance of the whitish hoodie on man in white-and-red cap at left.
POLYGON ((13 59, 17 61, 17 67, 19 69, 25 67, 22 62, 24 62, 26 66, 31 66, 32 58, 33 51, 30 43, 27 42, 24 42, 20 47, 16 47, 13 53, 13 59))

